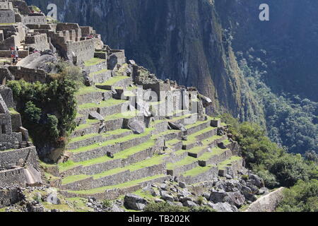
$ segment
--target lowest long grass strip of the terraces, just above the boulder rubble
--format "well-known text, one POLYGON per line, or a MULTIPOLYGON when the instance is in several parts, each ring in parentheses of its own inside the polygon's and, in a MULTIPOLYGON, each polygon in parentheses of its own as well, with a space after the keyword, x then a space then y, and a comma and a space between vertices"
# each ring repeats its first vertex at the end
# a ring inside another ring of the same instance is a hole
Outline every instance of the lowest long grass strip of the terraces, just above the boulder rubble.
POLYGON ((89 194, 99 194, 99 193, 105 192, 106 190, 123 189, 123 188, 127 188, 127 187, 130 187, 130 186, 136 186, 139 183, 148 182, 150 180, 158 179, 160 177, 165 177, 165 176, 166 176, 165 174, 159 174, 159 175, 155 175, 153 177, 144 177, 142 179, 137 179, 135 181, 126 182, 124 184, 116 184, 116 185, 113 185, 113 186, 103 186, 103 187, 100 187, 100 188, 97 188, 97 189, 90 189, 90 190, 83 190, 83 191, 69 191, 69 192, 70 193, 74 193, 74 194, 88 194, 88 195, 89 194))

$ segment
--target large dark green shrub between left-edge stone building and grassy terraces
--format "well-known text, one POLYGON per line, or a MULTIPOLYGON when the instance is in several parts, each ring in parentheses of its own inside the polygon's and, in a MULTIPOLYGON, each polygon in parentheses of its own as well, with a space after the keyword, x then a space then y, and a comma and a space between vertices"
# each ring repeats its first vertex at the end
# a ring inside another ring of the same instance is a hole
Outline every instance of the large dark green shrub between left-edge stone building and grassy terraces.
POLYGON ((38 148, 66 137, 75 129, 78 83, 66 72, 49 83, 8 81, 23 125, 38 148))

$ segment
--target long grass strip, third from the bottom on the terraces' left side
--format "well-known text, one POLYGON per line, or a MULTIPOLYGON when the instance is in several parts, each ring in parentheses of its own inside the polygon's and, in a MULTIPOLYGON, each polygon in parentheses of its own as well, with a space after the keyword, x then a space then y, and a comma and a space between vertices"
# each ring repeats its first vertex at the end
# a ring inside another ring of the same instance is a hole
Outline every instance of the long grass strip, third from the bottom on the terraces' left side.
POLYGON ((123 150, 119 153, 116 153, 116 154, 114 154, 114 158, 110 158, 107 155, 105 155, 102 157, 94 158, 91 160, 86 160, 83 162, 69 161, 69 162, 60 163, 59 164, 59 171, 64 172, 67 169, 72 169, 73 167, 78 167, 80 165, 82 165, 83 167, 86 167, 86 166, 96 165, 96 164, 103 163, 103 162, 108 162, 110 160, 126 159, 130 155, 134 155, 135 153, 139 153, 143 150, 146 150, 148 148, 153 147, 154 145, 155 145, 155 141, 150 140, 150 141, 147 141, 145 143, 141 143, 140 145, 136 145, 132 148, 128 148, 128 149, 123 150))

